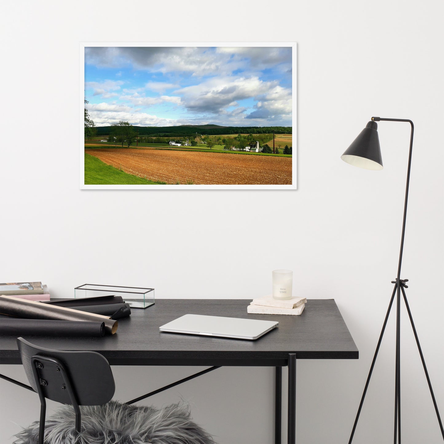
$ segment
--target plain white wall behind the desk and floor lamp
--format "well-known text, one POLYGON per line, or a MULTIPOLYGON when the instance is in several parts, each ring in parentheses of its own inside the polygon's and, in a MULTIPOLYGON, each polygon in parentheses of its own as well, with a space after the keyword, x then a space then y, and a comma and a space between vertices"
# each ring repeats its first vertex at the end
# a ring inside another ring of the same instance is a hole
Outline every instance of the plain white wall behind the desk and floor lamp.
MULTIPOLYGON (((159 298, 253 298, 271 270, 292 269, 295 293, 336 300, 360 351, 297 363, 297 441, 345 442, 396 277, 409 126, 379 124, 381 172, 340 155, 372 115, 412 119, 401 277, 444 416, 442 2, 21 1, 2 12, 0 281, 41 280, 56 297, 106 282, 154 286, 159 298), (257 39, 298 43, 297 191, 79 190, 80 41, 257 39), (226 229, 233 221, 252 228, 226 229)), ((394 317, 356 443, 392 439, 394 317)), ((403 441, 440 442, 405 309, 401 329, 403 441)), ((115 367, 116 396, 193 370, 115 367)), ((24 380, 18 366, 1 373, 24 380)), ((11 442, 38 419, 38 400, 0 388, 0 441, 11 442)), ((183 396, 220 443, 258 444, 272 442, 272 394, 273 369, 222 368, 152 402, 183 396)))

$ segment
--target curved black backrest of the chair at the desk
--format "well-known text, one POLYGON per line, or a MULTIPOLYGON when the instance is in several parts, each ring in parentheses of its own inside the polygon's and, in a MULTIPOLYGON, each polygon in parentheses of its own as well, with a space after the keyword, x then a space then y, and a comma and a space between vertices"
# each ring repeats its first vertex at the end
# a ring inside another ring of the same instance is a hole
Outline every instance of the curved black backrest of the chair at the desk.
POLYGON ((73 405, 72 391, 79 405, 102 405, 114 396, 111 367, 101 354, 45 349, 21 337, 17 345, 29 383, 45 398, 73 405))

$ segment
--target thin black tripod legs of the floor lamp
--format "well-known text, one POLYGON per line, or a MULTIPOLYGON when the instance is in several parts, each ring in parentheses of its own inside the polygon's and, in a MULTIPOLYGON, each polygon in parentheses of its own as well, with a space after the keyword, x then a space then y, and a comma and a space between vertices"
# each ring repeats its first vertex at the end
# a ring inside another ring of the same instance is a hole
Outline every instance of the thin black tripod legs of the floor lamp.
POLYGON ((443 424, 441 422, 440 412, 438 411, 438 406, 436 405, 435 395, 433 394, 432 384, 430 382, 430 378, 428 376, 427 367, 425 365, 424 356, 422 354, 421 345, 419 343, 418 335, 416 333, 415 324, 413 323, 412 313, 410 312, 410 307, 408 306, 407 296, 405 295, 405 289, 408 288, 406 285, 408 279, 399 279, 396 278, 395 281, 392 281, 392 284, 395 284, 395 288, 393 289, 392 297, 390 298, 389 309, 387 310, 387 314, 385 315, 384 324, 382 325, 381 335, 379 336, 379 341, 376 346, 375 355, 373 356, 372 365, 370 366, 369 376, 367 377, 367 381, 365 383, 364 392, 362 393, 361 403, 359 404, 358 412, 356 415, 355 422, 353 424, 353 430, 350 435, 349 444, 352 443, 353 435, 356 430, 356 426, 358 423, 359 415, 361 413, 362 404, 364 404, 365 394, 367 393, 367 388, 369 387, 370 378, 372 377, 373 367, 375 366, 376 358, 379 352, 379 347, 381 346, 382 337, 384 336, 385 326, 387 325, 387 320, 389 319, 390 310, 392 309, 393 300, 396 295, 396 365, 395 365, 395 420, 394 420, 394 433, 393 433, 393 443, 401 443, 401 387, 400 387, 400 299, 401 293, 404 298, 405 307, 407 308, 408 317, 410 318, 410 323, 412 324, 413 333, 415 335, 416 345, 418 346, 419 354, 421 357, 422 365, 424 367, 425 377, 427 378, 428 388, 430 389, 430 394, 432 395, 433 405, 435 406, 436 417, 438 418, 438 422, 441 429, 441 434, 444 440, 444 429, 443 424))

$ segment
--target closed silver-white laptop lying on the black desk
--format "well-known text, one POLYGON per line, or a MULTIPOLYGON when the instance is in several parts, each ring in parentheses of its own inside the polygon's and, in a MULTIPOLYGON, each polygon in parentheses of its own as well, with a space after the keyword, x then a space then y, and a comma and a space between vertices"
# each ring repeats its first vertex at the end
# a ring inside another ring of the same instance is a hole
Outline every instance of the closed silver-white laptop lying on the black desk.
POLYGON ((162 325, 159 330, 169 333, 258 339, 258 337, 277 327, 278 324, 279 322, 276 321, 260 321, 258 319, 185 314, 162 325))

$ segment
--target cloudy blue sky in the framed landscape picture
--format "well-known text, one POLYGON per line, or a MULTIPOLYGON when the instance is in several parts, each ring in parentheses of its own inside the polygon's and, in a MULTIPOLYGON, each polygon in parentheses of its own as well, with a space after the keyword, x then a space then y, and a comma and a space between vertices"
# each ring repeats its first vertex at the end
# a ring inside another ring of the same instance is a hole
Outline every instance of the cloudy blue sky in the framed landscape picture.
POLYGON ((289 47, 87 47, 97 126, 292 126, 289 47))

